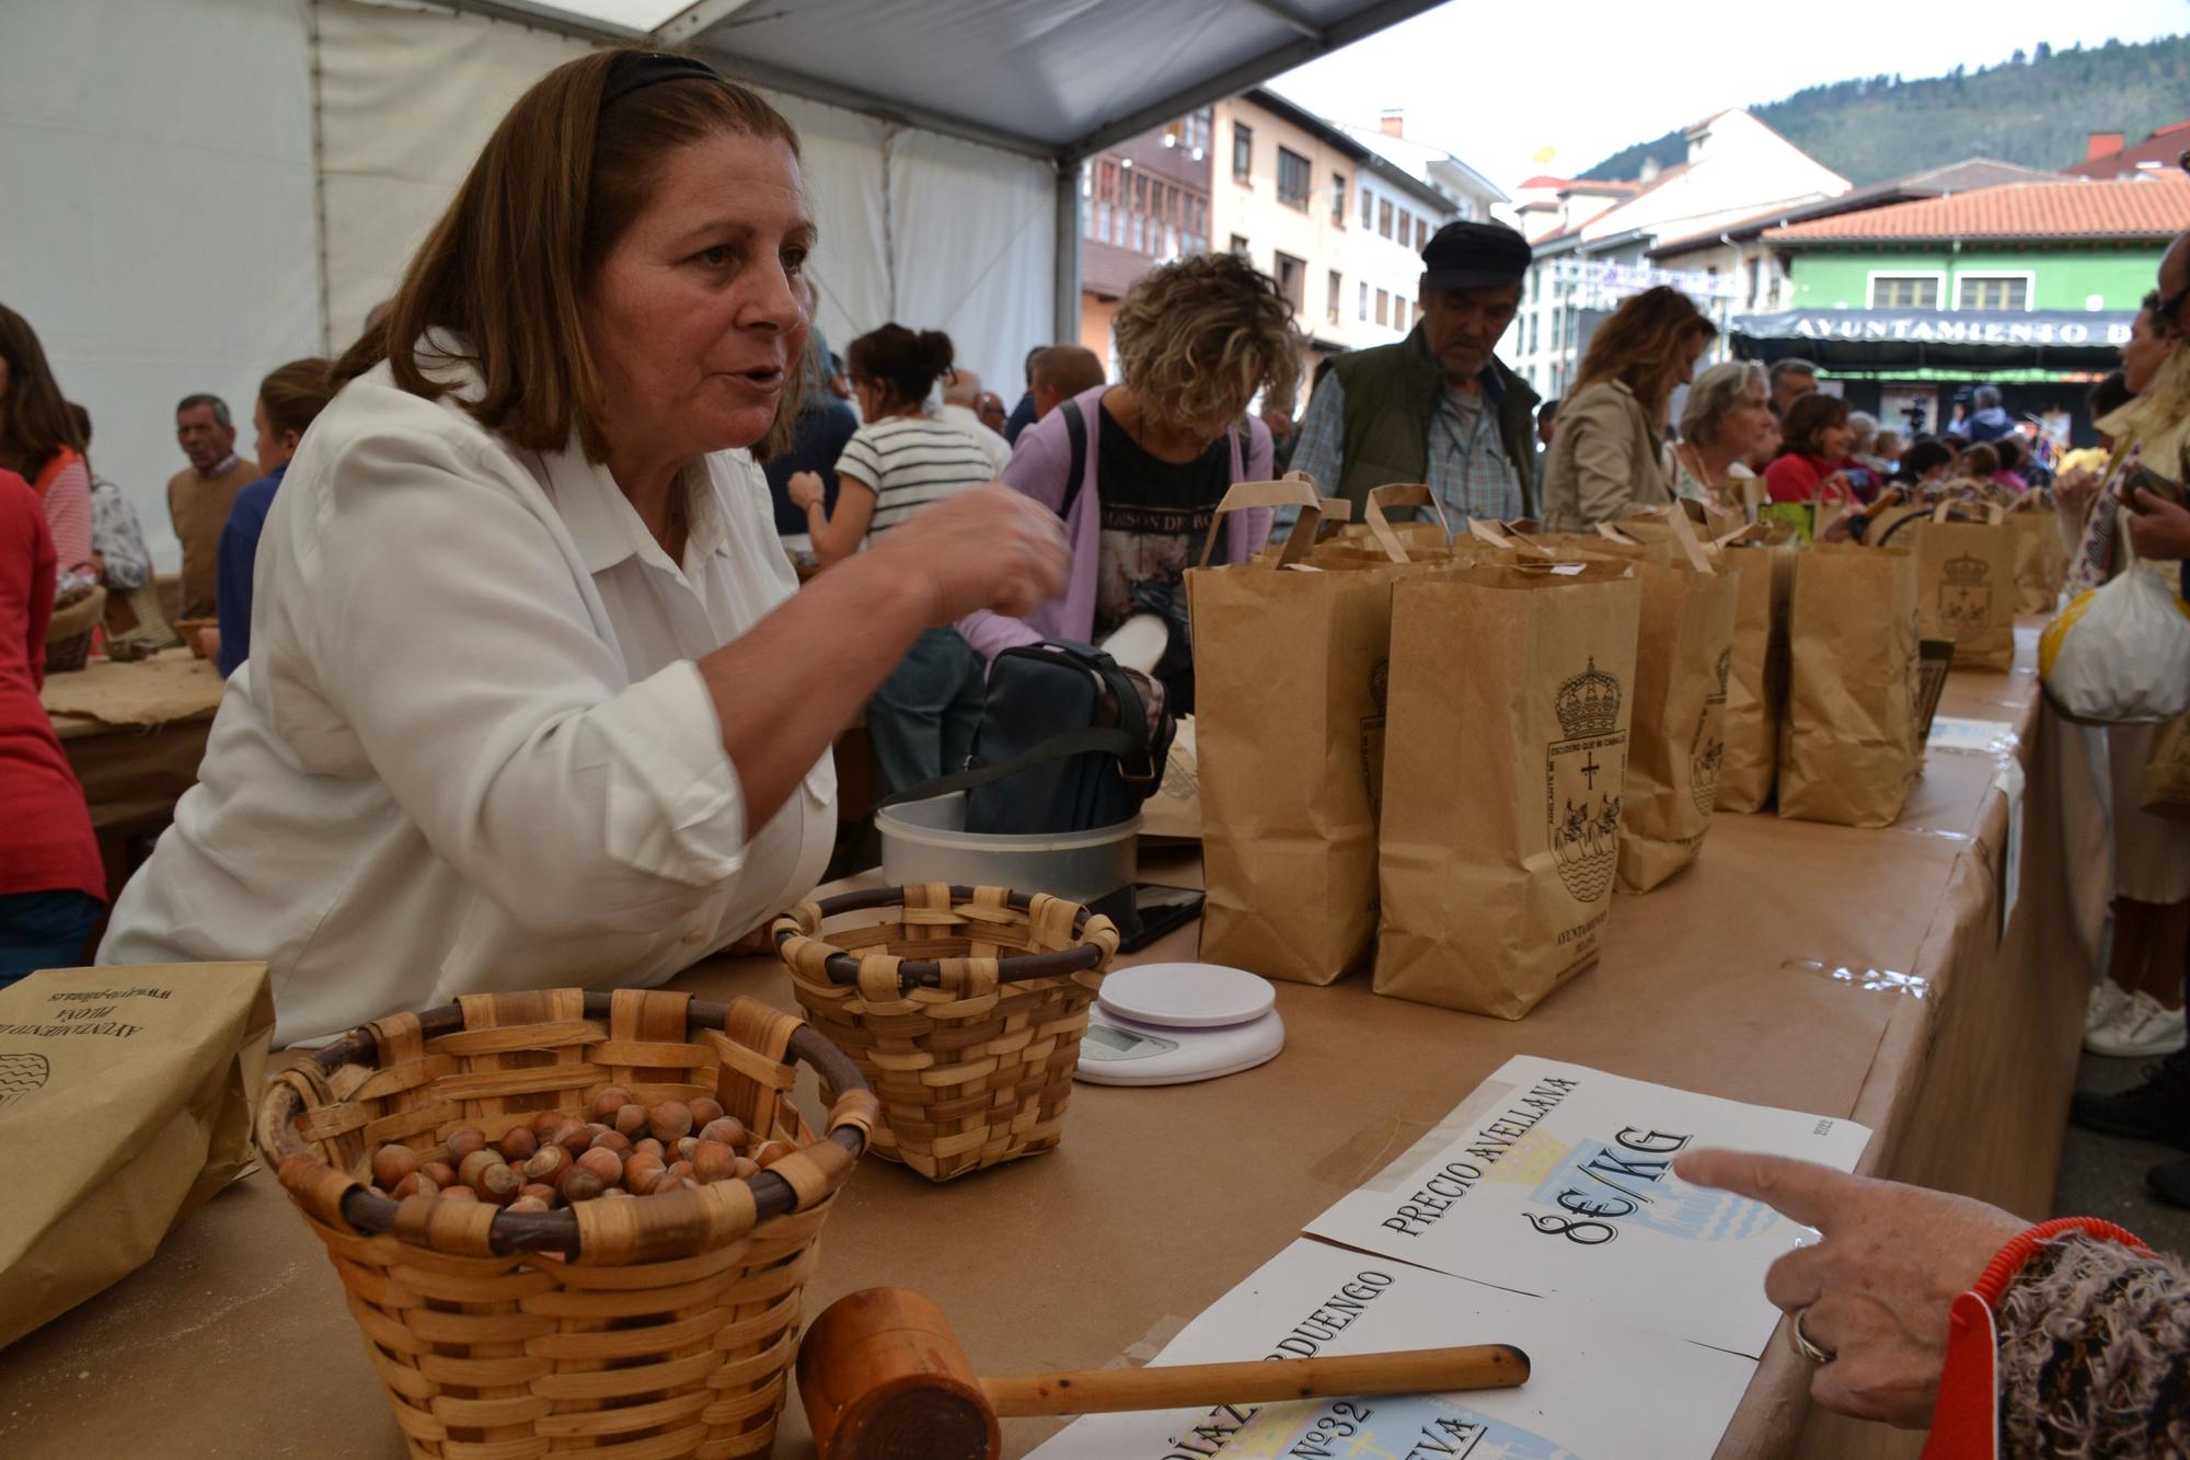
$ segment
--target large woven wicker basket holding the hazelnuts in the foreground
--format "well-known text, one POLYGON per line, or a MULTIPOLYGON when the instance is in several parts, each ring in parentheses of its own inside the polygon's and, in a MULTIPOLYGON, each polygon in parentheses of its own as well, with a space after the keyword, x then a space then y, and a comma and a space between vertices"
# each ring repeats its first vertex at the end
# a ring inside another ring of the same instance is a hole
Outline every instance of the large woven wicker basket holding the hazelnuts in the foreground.
POLYGON ((874 1122, 850 1061, 799 1019, 626 989, 504 993, 394 1015, 283 1072, 258 1144, 348 1289, 410 1453, 526 1460, 766 1456, 815 1239, 874 1122), (793 1057, 841 1090, 828 1138, 786 1098, 793 1057), (372 1151, 431 1160, 622 1085, 712 1094, 797 1153, 716 1182, 554 1212, 370 1190, 372 1151))

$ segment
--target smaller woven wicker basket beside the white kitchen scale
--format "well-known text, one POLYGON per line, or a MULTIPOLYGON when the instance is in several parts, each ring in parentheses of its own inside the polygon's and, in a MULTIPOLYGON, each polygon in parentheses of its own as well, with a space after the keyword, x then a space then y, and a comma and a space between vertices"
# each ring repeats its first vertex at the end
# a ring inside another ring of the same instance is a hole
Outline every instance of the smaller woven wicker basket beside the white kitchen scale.
POLYGON ((804 903, 773 932, 806 1017, 883 1103, 876 1155, 948 1182, 1062 1140, 1088 1004, 1117 954, 1110 919, 1040 892, 920 883, 804 903), (823 932, 876 908, 894 916, 823 932))

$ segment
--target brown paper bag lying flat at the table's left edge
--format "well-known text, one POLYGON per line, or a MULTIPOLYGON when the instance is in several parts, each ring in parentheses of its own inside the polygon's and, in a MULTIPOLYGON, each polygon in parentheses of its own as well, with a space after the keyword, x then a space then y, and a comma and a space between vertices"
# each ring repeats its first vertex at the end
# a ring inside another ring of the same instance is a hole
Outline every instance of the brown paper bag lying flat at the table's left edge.
POLYGON ((0 989, 0 1346, 136 1271, 250 1168, 263 962, 48 969, 0 989))

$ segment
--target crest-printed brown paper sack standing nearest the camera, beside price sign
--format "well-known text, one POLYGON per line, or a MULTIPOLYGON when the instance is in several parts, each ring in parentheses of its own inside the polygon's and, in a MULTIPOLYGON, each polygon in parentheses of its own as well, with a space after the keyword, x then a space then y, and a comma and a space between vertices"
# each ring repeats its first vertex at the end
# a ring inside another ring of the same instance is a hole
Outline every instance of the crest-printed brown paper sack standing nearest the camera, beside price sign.
POLYGON ((1640 603, 1610 561, 1393 585, 1378 993, 1520 1019, 1597 960, 1640 603))

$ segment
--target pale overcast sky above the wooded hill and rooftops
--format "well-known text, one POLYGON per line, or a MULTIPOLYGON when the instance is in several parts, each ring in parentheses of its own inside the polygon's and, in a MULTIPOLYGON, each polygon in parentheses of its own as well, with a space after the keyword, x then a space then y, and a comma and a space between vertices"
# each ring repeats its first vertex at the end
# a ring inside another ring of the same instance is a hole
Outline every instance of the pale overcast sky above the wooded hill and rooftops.
MULTIPOLYGON (((1912 4, 1645 7, 1452 0, 1286 72, 1272 90, 1336 123, 1373 127, 1406 110, 1406 134, 1459 153, 1500 186, 1572 175, 1629 142, 1805 85, 1991 66, 2017 46, 2054 50, 2190 31, 2190 0, 1986 0, 1912 4), (1540 149, 1557 149, 1535 162, 1540 149)), ((2183 99, 2190 110, 2190 96, 2183 99)), ((2133 138, 2135 140, 2135 138, 2133 138)), ((2070 153, 2080 138, 2063 140, 2070 153)))

